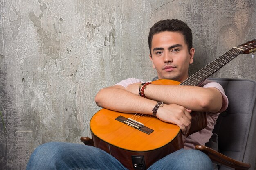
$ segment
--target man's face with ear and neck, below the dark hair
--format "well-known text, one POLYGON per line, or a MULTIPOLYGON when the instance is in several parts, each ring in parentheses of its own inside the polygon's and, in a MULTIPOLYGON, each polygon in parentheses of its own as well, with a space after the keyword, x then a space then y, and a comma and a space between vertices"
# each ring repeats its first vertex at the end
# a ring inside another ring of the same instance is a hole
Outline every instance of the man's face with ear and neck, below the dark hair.
POLYGON ((158 78, 182 82, 188 78, 195 49, 188 46, 179 32, 164 31, 153 35, 150 59, 158 78))

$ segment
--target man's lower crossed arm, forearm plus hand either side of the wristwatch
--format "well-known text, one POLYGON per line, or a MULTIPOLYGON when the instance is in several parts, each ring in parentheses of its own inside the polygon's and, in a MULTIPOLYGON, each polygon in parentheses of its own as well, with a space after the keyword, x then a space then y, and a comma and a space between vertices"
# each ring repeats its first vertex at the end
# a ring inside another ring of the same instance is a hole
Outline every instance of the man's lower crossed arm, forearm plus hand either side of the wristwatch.
MULTIPOLYGON (((124 113, 142 113, 152 115, 156 101, 138 96, 122 86, 112 86, 101 89, 95 96, 99 107, 124 113)), ((177 124, 182 133, 186 134, 191 123, 190 110, 177 104, 164 104, 157 111, 157 118, 162 121, 177 124)))

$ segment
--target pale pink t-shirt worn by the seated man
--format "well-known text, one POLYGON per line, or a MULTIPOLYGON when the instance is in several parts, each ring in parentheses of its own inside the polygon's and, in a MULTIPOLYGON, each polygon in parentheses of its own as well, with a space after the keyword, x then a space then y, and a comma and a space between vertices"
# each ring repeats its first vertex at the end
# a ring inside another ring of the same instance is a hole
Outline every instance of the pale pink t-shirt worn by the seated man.
MULTIPOLYGON (((121 85, 123 87, 127 87, 129 84, 143 83, 143 82, 144 81, 142 81, 140 79, 128 78, 126 80, 122 80, 121 82, 117 83, 116 85, 121 85)), ((199 86, 203 87, 203 88, 214 87, 214 88, 218 89, 220 91, 220 93, 222 94, 222 98, 223 98, 222 107, 218 113, 210 113, 209 112, 207 114, 207 127, 202 129, 201 131, 198 131, 196 133, 193 133, 192 135, 189 135, 189 137, 187 137, 185 139, 184 149, 195 149, 196 145, 204 145, 205 143, 207 143, 209 141, 209 139, 211 138, 211 135, 212 135, 213 128, 216 124, 218 115, 220 114, 220 112, 225 111, 227 109, 227 106, 229 103, 227 96, 224 93, 224 89, 222 88, 222 86, 219 83, 205 80, 199 86)))

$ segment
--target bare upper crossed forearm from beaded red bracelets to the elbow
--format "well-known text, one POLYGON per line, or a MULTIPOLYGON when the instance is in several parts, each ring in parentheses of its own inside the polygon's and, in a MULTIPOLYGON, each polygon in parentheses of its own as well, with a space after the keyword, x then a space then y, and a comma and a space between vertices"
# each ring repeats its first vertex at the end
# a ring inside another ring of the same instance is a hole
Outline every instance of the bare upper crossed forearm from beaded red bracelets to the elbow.
POLYGON ((147 98, 177 104, 193 111, 217 112, 222 106, 222 95, 215 88, 179 85, 147 85, 147 98))

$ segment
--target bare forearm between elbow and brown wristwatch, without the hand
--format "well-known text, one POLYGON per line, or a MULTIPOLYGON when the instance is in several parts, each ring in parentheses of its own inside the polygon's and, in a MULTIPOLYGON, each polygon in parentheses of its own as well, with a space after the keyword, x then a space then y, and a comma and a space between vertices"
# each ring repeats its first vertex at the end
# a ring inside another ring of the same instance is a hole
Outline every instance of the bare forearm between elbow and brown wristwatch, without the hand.
POLYGON ((101 89, 95 96, 95 102, 99 107, 125 113, 152 114, 156 101, 142 98, 125 89, 107 87, 101 89))

